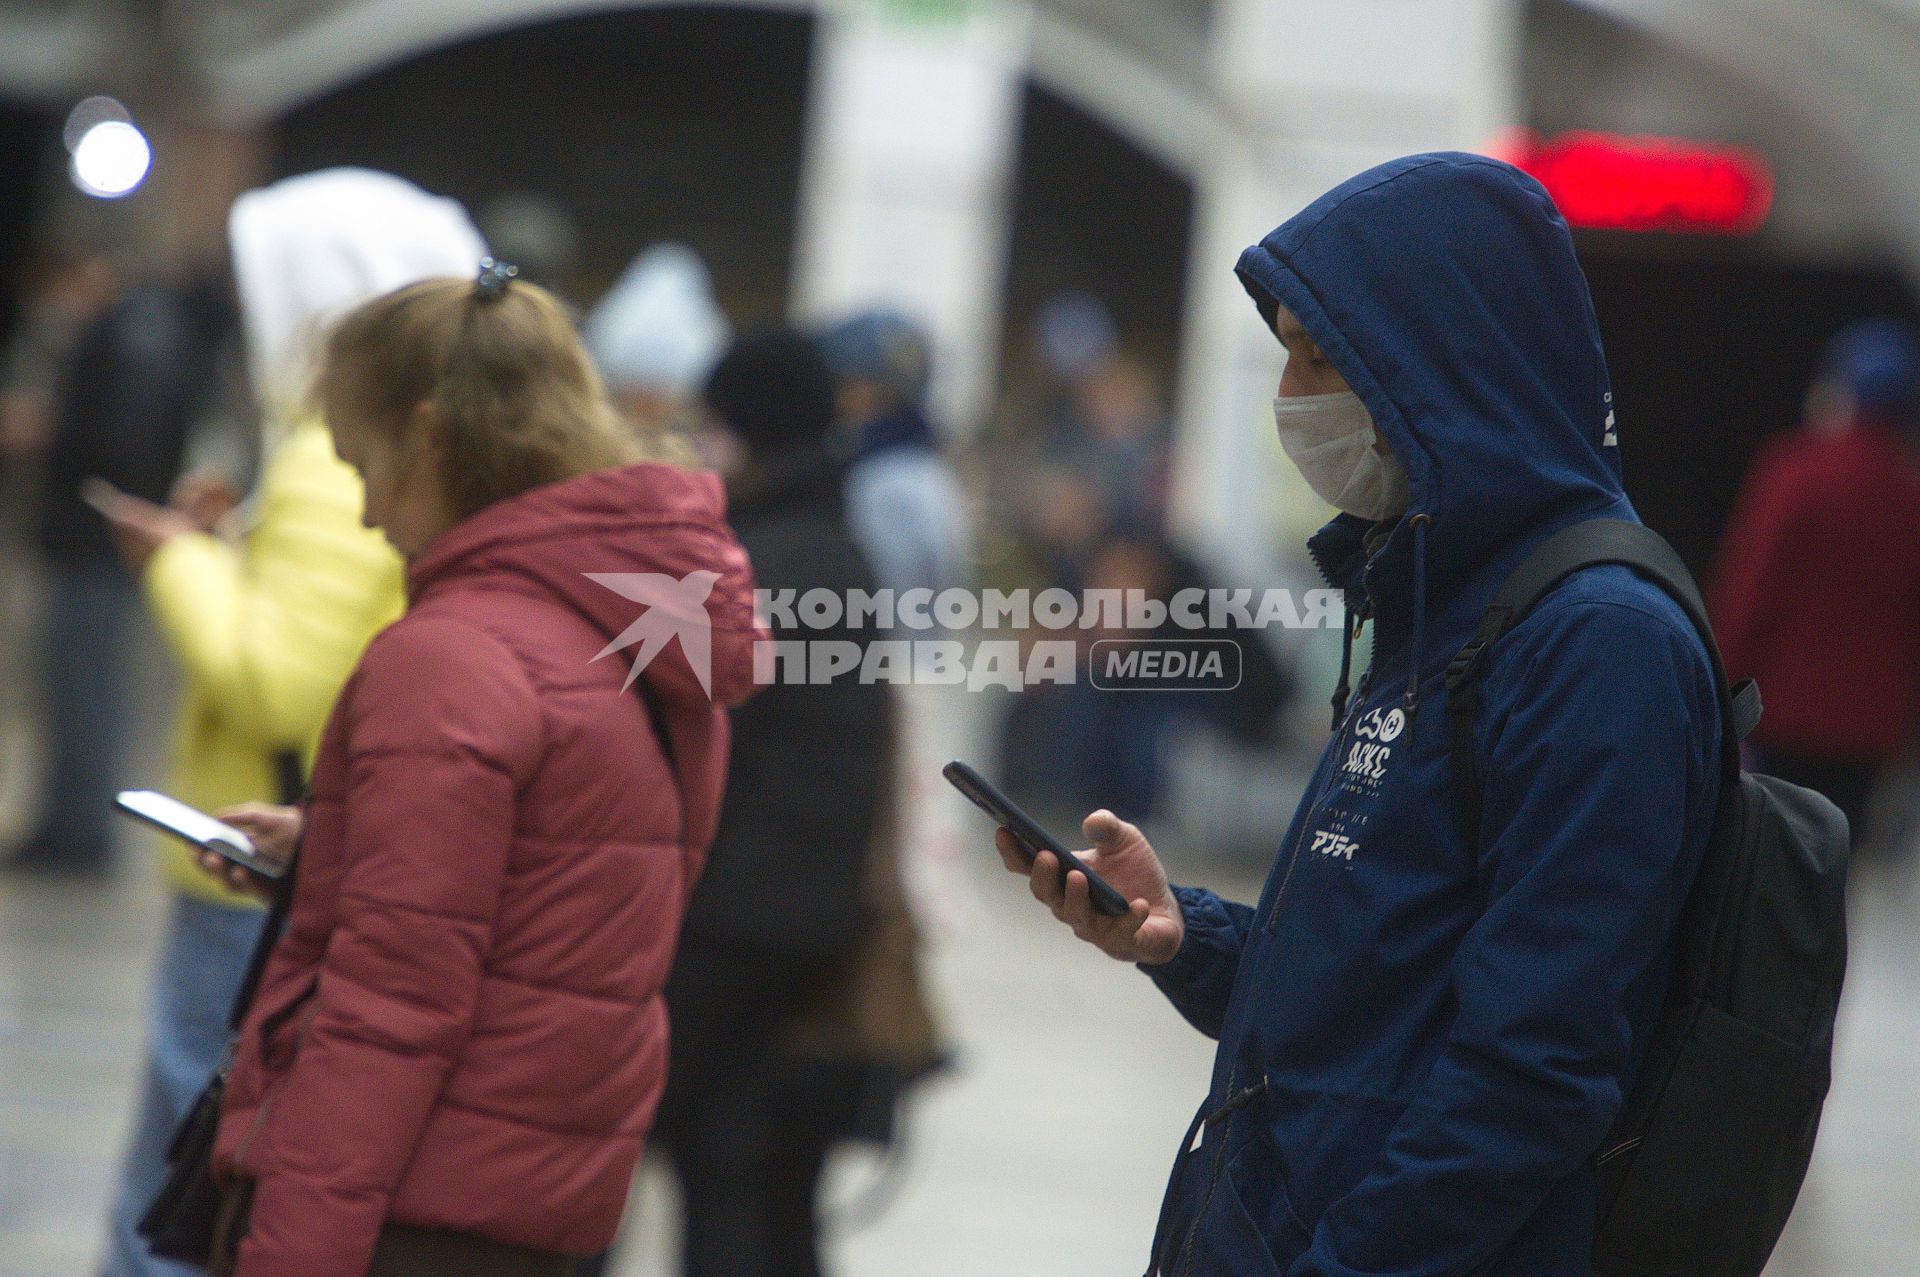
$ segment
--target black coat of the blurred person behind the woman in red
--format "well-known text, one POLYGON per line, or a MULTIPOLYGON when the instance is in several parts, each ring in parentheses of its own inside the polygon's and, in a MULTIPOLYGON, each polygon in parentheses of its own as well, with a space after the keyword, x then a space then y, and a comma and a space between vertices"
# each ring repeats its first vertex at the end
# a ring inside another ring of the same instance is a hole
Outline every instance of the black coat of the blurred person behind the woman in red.
MULTIPOLYGON (((824 453, 762 463, 733 517, 770 597, 874 588, 824 453)), ((733 714, 728 803, 666 991, 662 1131, 676 1139, 701 1106, 756 1087, 833 1137, 877 1139, 899 1091, 937 1062, 893 845, 897 705, 858 668, 833 684, 783 682, 789 668, 804 678, 806 643, 864 649, 877 630, 793 626, 778 611, 768 620, 803 664, 762 666, 762 682, 778 682, 733 714)))

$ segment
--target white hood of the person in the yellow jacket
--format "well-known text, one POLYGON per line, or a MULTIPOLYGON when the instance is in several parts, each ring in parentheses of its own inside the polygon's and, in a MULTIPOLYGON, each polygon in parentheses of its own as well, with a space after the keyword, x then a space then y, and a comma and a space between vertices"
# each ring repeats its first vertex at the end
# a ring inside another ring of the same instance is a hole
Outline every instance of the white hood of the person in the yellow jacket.
POLYGON ((486 244, 455 200, 372 169, 323 169, 250 190, 227 215, 253 390, 298 403, 326 325, 440 275, 472 277, 486 244))

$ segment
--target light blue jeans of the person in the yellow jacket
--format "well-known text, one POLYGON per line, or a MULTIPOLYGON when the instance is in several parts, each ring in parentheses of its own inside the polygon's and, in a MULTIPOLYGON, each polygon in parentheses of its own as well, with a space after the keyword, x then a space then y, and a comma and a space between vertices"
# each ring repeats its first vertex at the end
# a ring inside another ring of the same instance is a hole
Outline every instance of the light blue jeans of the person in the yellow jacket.
POLYGON ((173 901, 148 1004, 146 1081, 121 1164, 102 1277, 202 1277, 198 1267, 150 1256, 134 1225, 167 1179, 173 1131, 227 1052, 227 1014, 265 920, 257 908, 184 895, 173 901))

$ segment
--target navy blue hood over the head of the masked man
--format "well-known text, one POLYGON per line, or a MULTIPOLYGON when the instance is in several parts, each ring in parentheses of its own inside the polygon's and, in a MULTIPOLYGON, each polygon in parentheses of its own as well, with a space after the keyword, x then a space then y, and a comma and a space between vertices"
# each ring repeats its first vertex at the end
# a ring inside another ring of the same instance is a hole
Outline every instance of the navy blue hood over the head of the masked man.
MULTIPOLYGON (((1373 413, 1407 470, 1409 517, 1432 517, 1432 590, 1624 501, 1586 278, 1551 198, 1513 165, 1394 159, 1309 204, 1236 269, 1265 321, 1275 301, 1292 311, 1373 413)), ((1361 520, 1334 524, 1336 547, 1357 545, 1361 520)))

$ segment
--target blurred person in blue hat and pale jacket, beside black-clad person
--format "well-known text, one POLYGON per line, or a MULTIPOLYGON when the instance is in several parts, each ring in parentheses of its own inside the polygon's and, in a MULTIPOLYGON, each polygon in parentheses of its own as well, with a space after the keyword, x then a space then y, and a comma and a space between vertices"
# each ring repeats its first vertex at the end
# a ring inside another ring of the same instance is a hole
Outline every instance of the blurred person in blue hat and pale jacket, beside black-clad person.
POLYGON ((908 590, 966 586, 966 497, 927 419, 925 330, 897 311, 866 311, 829 328, 822 349, 837 380, 847 530, 874 578, 897 601, 908 590))

